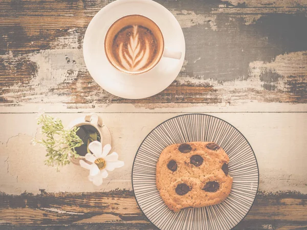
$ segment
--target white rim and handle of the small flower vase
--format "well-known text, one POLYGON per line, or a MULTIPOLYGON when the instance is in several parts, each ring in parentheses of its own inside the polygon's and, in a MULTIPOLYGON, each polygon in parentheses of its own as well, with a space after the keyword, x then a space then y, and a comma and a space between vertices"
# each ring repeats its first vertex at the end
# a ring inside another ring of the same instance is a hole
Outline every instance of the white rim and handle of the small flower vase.
MULTIPOLYGON (((94 128, 97 129, 100 134, 102 147, 106 144, 111 145, 111 132, 109 131, 108 127, 102 122, 102 118, 99 117, 98 114, 90 113, 84 115, 83 117, 77 118, 68 125, 68 128, 72 129, 74 127, 80 127, 82 125, 92 125, 94 128), (93 119, 95 117, 97 117, 97 119, 93 119)), ((84 153, 84 155, 85 154, 86 152, 84 153)), ((80 165, 79 160, 84 160, 85 162, 87 162, 87 160, 85 160, 85 156, 79 156, 78 158, 75 158, 72 156, 72 154, 69 154, 68 158, 74 165, 80 165)))

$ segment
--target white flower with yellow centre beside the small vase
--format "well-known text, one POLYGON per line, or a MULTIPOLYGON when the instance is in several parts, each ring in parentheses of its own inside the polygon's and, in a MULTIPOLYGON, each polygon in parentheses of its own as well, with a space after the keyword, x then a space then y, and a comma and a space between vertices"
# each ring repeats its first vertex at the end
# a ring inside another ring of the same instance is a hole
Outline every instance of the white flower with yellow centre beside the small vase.
POLYGON ((113 171, 115 168, 120 168, 124 166, 124 162, 118 160, 118 154, 112 152, 108 154, 111 150, 111 145, 107 144, 103 147, 98 141, 91 142, 89 145, 91 153, 86 153, 85 159, 92 164, 87 164, 84 160, 80 160, 80 166, 90 170, 89 180, 96 186, 102 184, 102 179, 106 178, 107 171, 113 171))

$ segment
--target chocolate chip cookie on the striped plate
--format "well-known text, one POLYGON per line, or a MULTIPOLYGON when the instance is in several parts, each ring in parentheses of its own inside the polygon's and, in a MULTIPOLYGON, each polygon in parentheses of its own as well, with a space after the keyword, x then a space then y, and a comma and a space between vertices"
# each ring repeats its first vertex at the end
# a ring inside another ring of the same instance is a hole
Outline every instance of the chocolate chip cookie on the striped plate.
POLYGON ((170 145, 157 163, 157 188, 174 212, 221 203, 232 186, 228 163, 226 152, 212 142, 170 145))

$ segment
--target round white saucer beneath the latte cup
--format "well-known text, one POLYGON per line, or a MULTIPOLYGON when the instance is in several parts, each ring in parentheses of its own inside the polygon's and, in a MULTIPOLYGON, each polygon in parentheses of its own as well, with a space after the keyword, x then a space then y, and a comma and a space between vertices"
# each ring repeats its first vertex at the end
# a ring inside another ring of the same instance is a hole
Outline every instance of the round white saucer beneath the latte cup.
POLYGON ((162 5, 151 0, 117 0, 101 9, 87 27, 83 41, 84 61, 94 80, 106 91, 128 99, 160 93, 178 76, 185 57, 185 40, 177 19, 162 5), (162 57, 150 71, 127 75, 118 71, 105 56, 104 36, 117 19, 141 14, 160 27, 165 47, 182 52, 181 59, 162 57))

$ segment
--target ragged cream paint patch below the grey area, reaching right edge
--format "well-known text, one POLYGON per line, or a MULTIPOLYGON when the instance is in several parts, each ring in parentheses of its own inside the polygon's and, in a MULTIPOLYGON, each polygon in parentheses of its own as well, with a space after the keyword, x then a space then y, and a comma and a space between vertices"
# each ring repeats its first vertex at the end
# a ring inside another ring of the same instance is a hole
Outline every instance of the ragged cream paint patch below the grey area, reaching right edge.
MULTIPOLYGON (((298 84, 307 83, 307 68, 305 66, 307 66, 307 52, 292 52, 278 55, 271 62, 251 62, 248 70, 249 75, 233 81, 218 81, 213 78, 204 79, 204 76, 179 76, 177 81, 181 84, 207 84, 213 86, 213 89, 218 89, 219 95, 225 97, 223 100, 225 102, 229 100, 227 99, 228 96, 239 96, 241 92, 249 91, 250 89, 259 92, 275 90, 279 95, 284 94, 284 92, 291 93, 289 86, 289 81, 292 80, 291 76, 297 76, 298 78, 301 76, 301 81, 298 84), (271 85, 271 87, 266 88, 264 87, 265 84, 271 85)), ((293 82, 293 80, 290 82, 293 82)), ((307 91, 305 91, 305 94, 307 94, 307 91)), ((248 98, 251 100, 256 99, 254 97, 253 92, 249 91, 248 98)))

